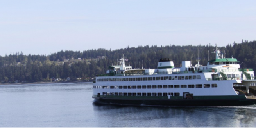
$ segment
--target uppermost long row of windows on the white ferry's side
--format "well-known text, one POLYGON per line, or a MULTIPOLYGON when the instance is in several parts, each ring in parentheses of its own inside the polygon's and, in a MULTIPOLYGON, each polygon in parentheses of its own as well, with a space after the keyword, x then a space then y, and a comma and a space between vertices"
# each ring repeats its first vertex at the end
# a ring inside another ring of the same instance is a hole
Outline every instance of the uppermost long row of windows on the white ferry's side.
POLYGON ((149 81, 149 80, 192 80, 201 79, 200 75, 192 76, 158 76, 158 77, 137 77, 137 78, 98 78, 97 81, 149 81))

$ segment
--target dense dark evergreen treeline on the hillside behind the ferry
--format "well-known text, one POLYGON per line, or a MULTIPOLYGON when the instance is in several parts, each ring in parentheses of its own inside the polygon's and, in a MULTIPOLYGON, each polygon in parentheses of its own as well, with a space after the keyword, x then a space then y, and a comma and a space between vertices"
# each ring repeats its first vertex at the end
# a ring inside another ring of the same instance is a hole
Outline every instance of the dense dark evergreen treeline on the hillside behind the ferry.
MULTIPOLYGON (((242 68, 253 68, 256 71, 256 41, 247 40, 219 47, 225 51, 226 58, 234 57, 240 61, 242 68)), ((71 77, 95 77, 104 74, 109 65, 118 65, 122 54, 128 59, 127 65, 133 68, 156 68, 160 58, 170 58, 175 67, 181 66, 181 61, 192 61, 206 65, 208 60, 215 59, 215 45, 199 46, 138 46, 119 50, 63 51, 50 55, 24 55, 23 52, 0 56, 0 82, 13 81, 50 81, 50 78, 66 79, 71 77), (197 56, 199 51, 199 56, 197 56), (79 58, 79 59, 78 59, 79 58)))

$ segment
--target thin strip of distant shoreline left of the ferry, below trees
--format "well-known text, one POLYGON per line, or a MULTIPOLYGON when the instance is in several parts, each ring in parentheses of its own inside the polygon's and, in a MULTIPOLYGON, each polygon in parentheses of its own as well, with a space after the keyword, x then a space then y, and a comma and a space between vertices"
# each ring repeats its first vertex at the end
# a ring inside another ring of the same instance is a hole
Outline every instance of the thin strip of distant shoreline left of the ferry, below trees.
POLYGON ((58 81, 58 82, 28 82, 28 83, 0 83, 0 85, 24 85, 24 84, 47 84, 47 83, 92 83, 93 81, 58 81))

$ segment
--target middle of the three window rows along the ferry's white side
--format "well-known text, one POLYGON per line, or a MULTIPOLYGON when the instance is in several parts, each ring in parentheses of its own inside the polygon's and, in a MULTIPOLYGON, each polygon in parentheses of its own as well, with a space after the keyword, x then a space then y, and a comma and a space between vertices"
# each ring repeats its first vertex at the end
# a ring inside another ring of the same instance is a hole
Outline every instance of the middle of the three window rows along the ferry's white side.
POLYGON ((196 84, 196 85, 132 85, 132 86, 93 86, 93 88, 107 88, 107 89, 151 89, 151 88, 217 88, 217 84, 196 84))

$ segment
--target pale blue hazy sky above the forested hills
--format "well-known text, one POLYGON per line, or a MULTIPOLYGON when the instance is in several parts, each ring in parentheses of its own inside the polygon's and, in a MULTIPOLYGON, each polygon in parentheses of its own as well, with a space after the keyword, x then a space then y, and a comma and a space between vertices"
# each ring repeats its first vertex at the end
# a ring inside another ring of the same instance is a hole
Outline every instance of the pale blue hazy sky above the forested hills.
POLYGON ((0 56, 256 40, 256 0, 0 0, 0 56))

